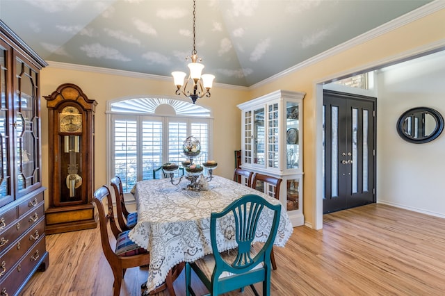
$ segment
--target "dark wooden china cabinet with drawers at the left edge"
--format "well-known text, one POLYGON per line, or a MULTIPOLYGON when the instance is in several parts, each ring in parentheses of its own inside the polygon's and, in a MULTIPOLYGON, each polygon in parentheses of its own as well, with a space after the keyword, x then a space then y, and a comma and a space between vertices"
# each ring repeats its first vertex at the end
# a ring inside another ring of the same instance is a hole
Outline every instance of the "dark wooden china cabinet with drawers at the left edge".
POLYGON ((0 20, 0 295, 18 295, 49 264, 40 142, 47 63, 0 20))

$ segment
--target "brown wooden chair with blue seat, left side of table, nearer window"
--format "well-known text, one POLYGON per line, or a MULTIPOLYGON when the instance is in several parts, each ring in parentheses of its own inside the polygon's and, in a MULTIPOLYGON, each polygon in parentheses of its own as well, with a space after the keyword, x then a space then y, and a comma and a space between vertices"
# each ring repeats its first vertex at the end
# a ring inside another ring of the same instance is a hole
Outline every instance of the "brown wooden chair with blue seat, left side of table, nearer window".
POLYGON ((138 222, 138 213, 127 211, 124 201, 124 190, 122 189, 122 181, 119 176, 111 179, 111 187, 114 190, 116 199, 116 214, 118 215, 119 227, 122 231, 133 229, 138 222))

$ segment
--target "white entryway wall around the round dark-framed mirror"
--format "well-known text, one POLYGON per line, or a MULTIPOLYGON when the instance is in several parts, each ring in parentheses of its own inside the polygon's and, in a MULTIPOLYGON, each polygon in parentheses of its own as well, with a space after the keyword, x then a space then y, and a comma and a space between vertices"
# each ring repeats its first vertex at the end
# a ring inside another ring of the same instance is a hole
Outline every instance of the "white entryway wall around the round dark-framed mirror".
POLYGON ((445 115, 445 51, 378 72, 377 198, 379 203, 445 217, 445 133, 425 143, 403 140, 398 118, 414 107, 445 115))

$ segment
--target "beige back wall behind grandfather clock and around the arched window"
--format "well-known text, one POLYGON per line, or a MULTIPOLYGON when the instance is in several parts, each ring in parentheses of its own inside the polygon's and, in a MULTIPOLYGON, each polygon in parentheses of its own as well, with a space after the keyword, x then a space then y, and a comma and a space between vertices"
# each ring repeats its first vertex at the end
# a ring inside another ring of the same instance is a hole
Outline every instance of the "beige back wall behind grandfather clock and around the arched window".
MULTIPOLYGON (((108 184, 106 179, 106 101, 122 97, 154 95, 176 97, 172 79, 153 80, 146 77, 123 76, 107 73, 45 67, 41 72, 40 94, 42 96, 42 184, 48 187, 48 109, 43 96, 54 92, 60 84, 74 83, 88 96, 97 101, 95 113, 95 188, 108 184)), ((69 67, 68 67, 69 68, 69 67)), ((116 72, 118 73, 118 72, 116 72)), ((142 76, 142 75, 140 75, 142 76)), ((241 147, 241 111, 237 104, 248 97, 246 90, 218 88, 210 98, 197 100, 197 104, 213 110, 213 153, 218 161, 215 174, 232 179, 234 151, 241 147)), ((45 192, 45 205, 48 194, 45 192)))

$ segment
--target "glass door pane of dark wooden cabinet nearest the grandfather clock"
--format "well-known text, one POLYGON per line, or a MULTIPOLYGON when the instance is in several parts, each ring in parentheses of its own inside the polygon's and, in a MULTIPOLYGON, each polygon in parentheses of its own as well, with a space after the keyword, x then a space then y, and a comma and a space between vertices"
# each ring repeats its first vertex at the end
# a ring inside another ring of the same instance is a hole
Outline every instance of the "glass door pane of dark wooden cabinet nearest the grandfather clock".
POLYGON ((38 167, 39 118, 37 114, 37 72, 21 60, 17 60, 17 88, 15 104, 16 156, 18 189, 22 190, 38 183, 40 172, 38 167))

